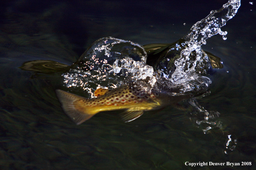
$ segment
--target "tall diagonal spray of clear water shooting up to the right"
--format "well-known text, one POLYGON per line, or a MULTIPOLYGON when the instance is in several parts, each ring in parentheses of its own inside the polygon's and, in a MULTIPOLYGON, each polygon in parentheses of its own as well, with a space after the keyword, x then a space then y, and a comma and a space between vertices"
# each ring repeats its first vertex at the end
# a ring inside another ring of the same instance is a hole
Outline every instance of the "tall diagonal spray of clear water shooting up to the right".
MULTIPOLYGON (((222 35, 224 40, 227 39, 227 32, 222 31, 221 27, 234 17, 239 7, 240 0, 229 0, 221 9, 211 11, 206 18, 191 27, 189 33, 183 37, 183 43, 185 44, 183 46, 185 47, 181 51, 181 57, 175 61, 176 69, 172 73, 172 82, 184 85, 187 84, 186 82, 190 82, 191 79, 203 78, 202 73, 206 73, 209 68, 207 64, 209 58, 201 46, 206 44, 206 39, 216 34, 222 35)), ((204 79, 207 78, 204 77, 204 79)), ((208 79, 204 86, 208 86, 210 83, 211 81, 208 79)), ((190 91, 191 89, 186 88, 186 86, 184 85, 183 91, 190 91)))

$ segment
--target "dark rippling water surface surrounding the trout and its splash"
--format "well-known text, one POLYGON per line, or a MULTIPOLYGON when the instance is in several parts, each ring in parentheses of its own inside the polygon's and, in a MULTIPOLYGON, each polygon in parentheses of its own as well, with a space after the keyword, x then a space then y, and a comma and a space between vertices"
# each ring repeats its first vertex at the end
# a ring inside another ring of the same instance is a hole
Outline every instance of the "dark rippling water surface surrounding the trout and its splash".
POLYGON ((142 45, 172 43, 226 1, 11 1, 0 9, 0 169, 256 169, 256 10, 237 15, 203 49, 222 58, 211 93, 197 102, 220 113, 222 128, 203 133, 193 113, 172 106, 124 123, 115 112, 77 126, 62 111, 58 73, 19 69, 26 61, 74 63, 95 40, 113 36, 142 45), (184 25, 184 23, 186 23, 184 25), (226 148, 231 135, 235 148, 226 148), (226 153, 225 153, 226 152, 226 153), (186 166, 186 162, 208 166, 186 166), (240 163, 213 166, 209 162, 240 163), (242 162, 250 164, 242 166, 242 162))

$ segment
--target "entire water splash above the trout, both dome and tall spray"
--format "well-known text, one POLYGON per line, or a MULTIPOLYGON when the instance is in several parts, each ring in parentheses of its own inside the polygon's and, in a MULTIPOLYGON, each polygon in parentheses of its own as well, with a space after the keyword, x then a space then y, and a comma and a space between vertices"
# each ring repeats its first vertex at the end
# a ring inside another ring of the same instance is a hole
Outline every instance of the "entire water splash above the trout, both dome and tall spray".
POLYGON ((147 49, 131 41, 106 37, 94 42, 84 52, 69 72, 63 73, 68 88, 88 92, 96 88, 115 88, 126 82, 136 82, 151 91, 179 94, 202 94, 209 89, 211 79, 207 77, 210 68, 209 56, 201 49, 206 39, 220 34, 226 22, 233 18, 240 7, 240 0, 229 0, 221 9, 210 14, 191 27, 189 33, 179 41, 163 47, 161 56, 152 66, 146 64, 147 49))

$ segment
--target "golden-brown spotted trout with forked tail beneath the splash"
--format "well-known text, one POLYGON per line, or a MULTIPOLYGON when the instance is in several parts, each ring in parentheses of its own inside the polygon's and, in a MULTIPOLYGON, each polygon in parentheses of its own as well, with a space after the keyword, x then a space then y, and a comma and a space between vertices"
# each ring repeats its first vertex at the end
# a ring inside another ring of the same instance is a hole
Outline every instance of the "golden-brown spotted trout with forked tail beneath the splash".
POLYGON ((142 88, 122 86, 112 90, 99 88, 96 98, 87 99, 66 91, 56 90, 64 112, 76 123, 81 124, 98 112, 122 110, 122 120, 133 121, 144 111, 158 109, 169 103, 167 95, 158 92, 147 94, 142 88))

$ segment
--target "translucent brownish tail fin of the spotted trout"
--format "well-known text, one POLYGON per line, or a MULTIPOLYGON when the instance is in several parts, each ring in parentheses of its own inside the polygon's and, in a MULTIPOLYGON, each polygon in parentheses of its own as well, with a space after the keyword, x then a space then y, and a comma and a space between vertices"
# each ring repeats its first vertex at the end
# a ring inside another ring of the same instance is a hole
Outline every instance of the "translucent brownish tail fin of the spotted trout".
POLYGON ((95 115, 95 113, 87 112, 86 108, 83 108, 83 106, 76 104, 79 103, 77 102, 78 100, 84 100, 84 97, 59 89, 56 90, 56 94, 62 105, 62 109, 76 124, 81 124, 95 115))

